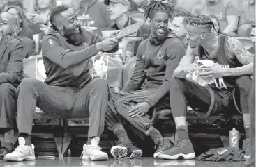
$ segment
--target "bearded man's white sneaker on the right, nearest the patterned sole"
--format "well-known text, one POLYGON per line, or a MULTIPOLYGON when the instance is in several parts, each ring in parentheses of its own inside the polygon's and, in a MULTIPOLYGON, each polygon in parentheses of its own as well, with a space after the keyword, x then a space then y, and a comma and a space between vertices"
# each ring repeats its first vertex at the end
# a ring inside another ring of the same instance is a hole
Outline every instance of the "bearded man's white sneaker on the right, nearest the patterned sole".
POLYGON ((99 137, 93 137, 91 145, 84 144, 81 154, 82 160, 108 160, 107 153, 101 151, 100 146, 98 146, 99 142, 99 137))

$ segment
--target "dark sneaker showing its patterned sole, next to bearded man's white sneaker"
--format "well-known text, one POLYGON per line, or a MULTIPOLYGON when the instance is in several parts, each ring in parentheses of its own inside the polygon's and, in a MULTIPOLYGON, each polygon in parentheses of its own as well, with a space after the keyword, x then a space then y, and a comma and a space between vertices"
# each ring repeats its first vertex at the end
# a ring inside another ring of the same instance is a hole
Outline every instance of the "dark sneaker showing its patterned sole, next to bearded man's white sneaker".
POLYGON ((116 159, 124 157, 139 158, 142 156, 142 150, 133 146, 129 140, 117 141, 116 146, 112 146, 110 153, 116 159))

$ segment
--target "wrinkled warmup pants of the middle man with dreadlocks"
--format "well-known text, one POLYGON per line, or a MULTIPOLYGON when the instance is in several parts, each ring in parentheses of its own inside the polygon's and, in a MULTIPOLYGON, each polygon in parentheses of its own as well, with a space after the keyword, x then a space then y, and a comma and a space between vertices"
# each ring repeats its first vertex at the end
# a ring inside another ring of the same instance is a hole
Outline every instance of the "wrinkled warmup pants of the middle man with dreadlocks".
MULTIPOLYGON (((112 102, 109 102, 106 122, 110 129, 114 130, 122 126, 121 121, 118 116, 121 116, 123 119, 126 119, 129 124, 135 126, 138 130, 143 133, 147 133, 152 124, 153 117, 156 117, 156 114, 153 114, 153 108, 142 117, 132 118, 129 116, 129 110, 138 103, 145 102, 146 99, 151 95, 155 90, 140 90, 135 92, 113 92, 112 93, 112 102)), ((170 109, 168 96, 163 98, 160 103, 156 105, 156 111, 163 109, 170 109)))

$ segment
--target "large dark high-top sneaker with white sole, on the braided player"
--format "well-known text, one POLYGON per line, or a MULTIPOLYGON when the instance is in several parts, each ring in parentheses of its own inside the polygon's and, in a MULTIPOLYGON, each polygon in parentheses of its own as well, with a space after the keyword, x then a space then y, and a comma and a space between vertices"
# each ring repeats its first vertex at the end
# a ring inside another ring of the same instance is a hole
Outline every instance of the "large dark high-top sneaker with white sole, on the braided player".
POLYGON ((162 151, 158 158, 160 159, 194 159, 195 151, 190 140, 178 139, 177 142, 167 151, 162 151))

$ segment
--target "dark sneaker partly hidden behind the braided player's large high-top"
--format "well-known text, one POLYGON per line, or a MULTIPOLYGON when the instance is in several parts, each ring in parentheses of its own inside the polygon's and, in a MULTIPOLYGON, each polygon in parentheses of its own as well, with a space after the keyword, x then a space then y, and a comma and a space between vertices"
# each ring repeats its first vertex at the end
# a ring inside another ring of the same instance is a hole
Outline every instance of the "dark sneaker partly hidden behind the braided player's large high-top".
POLYGON ((166 137, 160 137, 156 139, 155 144, 157 149, 156 152, 153 154, 153 157, 156 159, 158 158, 158 155, 161 151, 166 151, 167 149, 170 149, 173 146, 173 142, 166 137))

